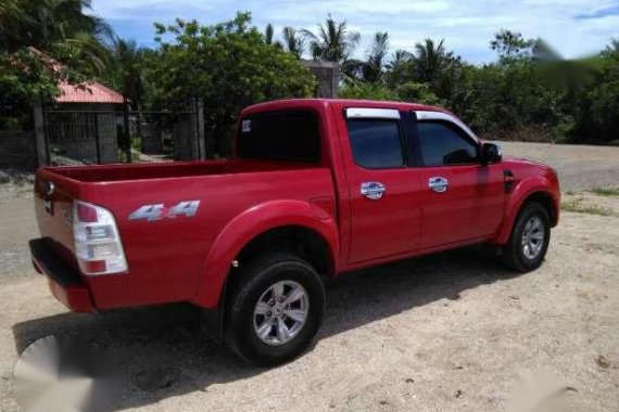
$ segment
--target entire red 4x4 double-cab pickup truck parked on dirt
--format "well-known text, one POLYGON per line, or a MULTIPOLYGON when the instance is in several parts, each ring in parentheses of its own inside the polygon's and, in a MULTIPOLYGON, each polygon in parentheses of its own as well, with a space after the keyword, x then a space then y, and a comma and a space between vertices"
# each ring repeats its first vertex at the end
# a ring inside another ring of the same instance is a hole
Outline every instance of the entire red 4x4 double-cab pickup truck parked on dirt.
POLYGON ((74 311, 189 301, 244 359, 299 355, 325 281, 490 243, 538 268, 559 215, 552 168, 502 158, 453 114, 287 100, 244 110, 229 160, 42 168, 36 269, 74 311))

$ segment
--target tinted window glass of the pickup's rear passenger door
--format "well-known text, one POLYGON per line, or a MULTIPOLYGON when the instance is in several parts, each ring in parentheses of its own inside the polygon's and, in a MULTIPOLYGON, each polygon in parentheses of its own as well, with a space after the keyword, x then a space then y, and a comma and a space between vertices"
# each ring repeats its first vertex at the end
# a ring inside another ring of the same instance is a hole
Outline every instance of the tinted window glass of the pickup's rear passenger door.
POLYGON ((366 169, 404 166, 399 120, 349 118, 346 126, 357 165, 366 169))

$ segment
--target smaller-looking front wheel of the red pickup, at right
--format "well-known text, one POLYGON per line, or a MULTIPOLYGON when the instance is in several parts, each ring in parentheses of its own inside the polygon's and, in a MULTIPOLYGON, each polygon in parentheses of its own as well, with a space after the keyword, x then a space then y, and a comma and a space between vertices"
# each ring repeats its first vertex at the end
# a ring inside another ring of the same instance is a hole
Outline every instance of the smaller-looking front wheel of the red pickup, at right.
POLYGON ((551 218, 544 206, 527 203, 514 222, 509 241, 503 248, 503 261, 508 269, 530 272, 544 261, 551 241, 551 218))

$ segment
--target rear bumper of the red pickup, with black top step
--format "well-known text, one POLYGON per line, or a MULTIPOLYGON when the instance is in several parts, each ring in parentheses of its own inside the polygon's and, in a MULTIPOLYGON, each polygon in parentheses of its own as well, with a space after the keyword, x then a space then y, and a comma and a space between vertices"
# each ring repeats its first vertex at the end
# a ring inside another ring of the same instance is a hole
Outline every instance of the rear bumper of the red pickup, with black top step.
POLYGON ((74 312, 93 312, 94 305, 78 271, 68 266, 45 239, 29 242, 33 265, 48 278, 52 295, 74 312))

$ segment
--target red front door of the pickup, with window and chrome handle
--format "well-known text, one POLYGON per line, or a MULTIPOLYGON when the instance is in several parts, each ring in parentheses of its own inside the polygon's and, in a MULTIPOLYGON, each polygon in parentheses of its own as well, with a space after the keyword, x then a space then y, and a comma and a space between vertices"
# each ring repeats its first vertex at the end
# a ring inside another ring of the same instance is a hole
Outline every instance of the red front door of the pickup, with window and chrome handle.
POLYGON ((483 241, 503 220, 501 164, 482 165, 480 141, 459 119, 417 112, 414 151, 424 188, 421 248, 483 241))

